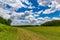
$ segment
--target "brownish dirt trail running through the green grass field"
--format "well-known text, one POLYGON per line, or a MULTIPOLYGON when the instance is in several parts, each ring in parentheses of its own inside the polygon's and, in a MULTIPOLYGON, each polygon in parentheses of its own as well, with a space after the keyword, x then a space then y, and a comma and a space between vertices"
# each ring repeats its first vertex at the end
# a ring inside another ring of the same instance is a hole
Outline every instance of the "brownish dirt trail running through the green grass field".
POLYGON ((46 40, 39 35, 25 29, 18 28, 17 40, 46 40))

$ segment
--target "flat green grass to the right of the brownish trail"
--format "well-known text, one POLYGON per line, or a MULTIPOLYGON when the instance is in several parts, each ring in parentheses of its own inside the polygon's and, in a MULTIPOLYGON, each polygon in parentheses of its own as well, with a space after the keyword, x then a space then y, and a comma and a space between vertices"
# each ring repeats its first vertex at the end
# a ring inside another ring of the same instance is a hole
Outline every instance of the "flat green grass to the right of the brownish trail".
POLYGON ((25 27, 39 36, 43 36, 46 40, 60 40, 60 26, 59 27, 25 27))

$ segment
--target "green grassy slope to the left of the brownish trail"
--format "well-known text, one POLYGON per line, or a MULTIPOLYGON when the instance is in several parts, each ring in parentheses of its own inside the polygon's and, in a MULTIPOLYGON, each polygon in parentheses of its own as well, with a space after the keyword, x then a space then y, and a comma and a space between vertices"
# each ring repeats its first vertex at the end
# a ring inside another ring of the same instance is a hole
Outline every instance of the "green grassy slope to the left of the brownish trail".
POLYGON ((16 40, 17 29, 0 24, 0 40, 16 40))

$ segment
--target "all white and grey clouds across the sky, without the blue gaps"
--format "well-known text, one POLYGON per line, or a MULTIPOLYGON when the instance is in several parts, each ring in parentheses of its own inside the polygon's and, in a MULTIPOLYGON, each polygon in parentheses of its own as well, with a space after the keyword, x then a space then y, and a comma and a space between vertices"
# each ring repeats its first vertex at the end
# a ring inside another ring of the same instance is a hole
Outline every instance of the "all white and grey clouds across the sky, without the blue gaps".
POLYGON ((58 17, 39 17, 40 14, 50 14, 55 12, 56 10, 60 10, 60 1, 59 0, 37 0, 39 6, 48 6, 49 9, 45 11, 40 10, 38 12, 33 12, 32 8, 36 8, 32 6, 32 3, 28 0, 0 0, 0 16, 4 19, 11 19, 11 25, 40 25, 44 22, 51 21, 51 20, 60 20, 58 17), (23 4, 26 3, 29 6, 23 4), (52 4, 50 4, 52 3, 52 4), (11 6, 10 9, 6 9, 4 6, 8 4, 11 6), (18 8, 28 8, 31 10, 26 10, 24 12, 17 13, 15 10, 18 8), (11 15, 10 15, 11 13, 11 15), (36 18, 37 17, 37 18, 36 18), (20 19, 22 18, 22 20, 20 19))

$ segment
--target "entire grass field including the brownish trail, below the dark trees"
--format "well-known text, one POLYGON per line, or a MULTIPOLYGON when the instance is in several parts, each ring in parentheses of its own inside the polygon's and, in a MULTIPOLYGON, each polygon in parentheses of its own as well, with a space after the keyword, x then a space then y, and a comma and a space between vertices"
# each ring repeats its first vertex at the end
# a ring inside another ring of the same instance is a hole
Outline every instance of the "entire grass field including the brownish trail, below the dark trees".
POLYGON ((60 27, 11 27, 0 24, 0 40, 60 40, 60 27))

